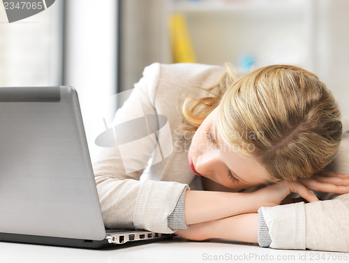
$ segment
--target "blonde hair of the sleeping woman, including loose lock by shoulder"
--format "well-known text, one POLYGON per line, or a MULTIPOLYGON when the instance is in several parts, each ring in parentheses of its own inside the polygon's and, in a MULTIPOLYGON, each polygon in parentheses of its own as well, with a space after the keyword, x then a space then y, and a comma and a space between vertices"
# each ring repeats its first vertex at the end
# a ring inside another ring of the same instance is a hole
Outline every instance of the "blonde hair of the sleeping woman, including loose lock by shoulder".
POLYGON ((339 149, 339 106, 326 85, 303 68, 265 66, 237 80, 226 70, 214 89, 209 100, 187 100, 184 118, 195 129, 219 107, 218 129, 225 142, 258 160, 271 181, 309 178, 339 149))

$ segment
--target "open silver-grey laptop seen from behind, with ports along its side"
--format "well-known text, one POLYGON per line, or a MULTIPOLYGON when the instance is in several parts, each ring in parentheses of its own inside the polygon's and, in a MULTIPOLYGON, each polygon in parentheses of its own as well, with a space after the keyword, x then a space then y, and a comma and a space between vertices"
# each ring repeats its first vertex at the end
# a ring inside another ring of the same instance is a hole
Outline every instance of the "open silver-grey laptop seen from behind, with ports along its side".
POLYGON ((0 241, 102 248, 172 235, 107 230, 72 87, 0 88, 0 241))

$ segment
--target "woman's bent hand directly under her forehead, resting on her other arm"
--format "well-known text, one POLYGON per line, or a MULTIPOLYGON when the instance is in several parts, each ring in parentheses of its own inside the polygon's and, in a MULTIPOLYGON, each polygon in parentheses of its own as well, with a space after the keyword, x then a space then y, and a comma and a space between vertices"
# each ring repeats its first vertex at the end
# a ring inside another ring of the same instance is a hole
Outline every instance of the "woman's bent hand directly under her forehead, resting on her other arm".
POLYGON ((295 181, 280 181, 270 186, 266 186, 260 190, 253 192, 258 206, 277 206, 290 195, 297 193, 308 202, 318 201, 318 197, 313 195, 302 183, 295 181))

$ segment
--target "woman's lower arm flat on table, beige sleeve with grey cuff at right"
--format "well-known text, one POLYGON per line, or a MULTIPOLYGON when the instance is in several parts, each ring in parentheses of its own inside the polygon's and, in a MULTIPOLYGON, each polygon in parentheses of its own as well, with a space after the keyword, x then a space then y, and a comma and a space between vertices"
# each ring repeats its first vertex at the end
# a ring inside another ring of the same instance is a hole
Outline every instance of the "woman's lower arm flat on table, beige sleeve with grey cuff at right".
MULTIPOLYGON (((277 192, 276 189, 269 190, 277 192)), ((255 197, 253 199, 258 200, 255 197)), ((195 223, 174 234, 197 241, 230 239, 260 243, 260 246, 271 248, 349 251, 349 225, 346 223, 349 194, 325 202, 262 207, 258 213, 195 223)))

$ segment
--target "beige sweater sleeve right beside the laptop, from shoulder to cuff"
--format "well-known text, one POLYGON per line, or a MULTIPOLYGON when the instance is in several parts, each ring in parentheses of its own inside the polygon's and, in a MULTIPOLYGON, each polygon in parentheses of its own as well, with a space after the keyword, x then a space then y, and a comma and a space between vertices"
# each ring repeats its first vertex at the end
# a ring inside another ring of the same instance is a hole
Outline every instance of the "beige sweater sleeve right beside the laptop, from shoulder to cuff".
MULTIPOLYGON (((146 114, 157 114, 154 96, 160 75, 158 63, 144 69, 140 82, 135 84, 131 96, 115 115, 112 127, 130 123, 146 114)), ((118 147, 100 148, 93 169, 106 227, 173 232, 168 227, 168 216, 188 185, 174 181, 140 181, 143 169, 156 149, 157 139, 163 140, 162 134, 158 138, 142 137, 118 147)))

